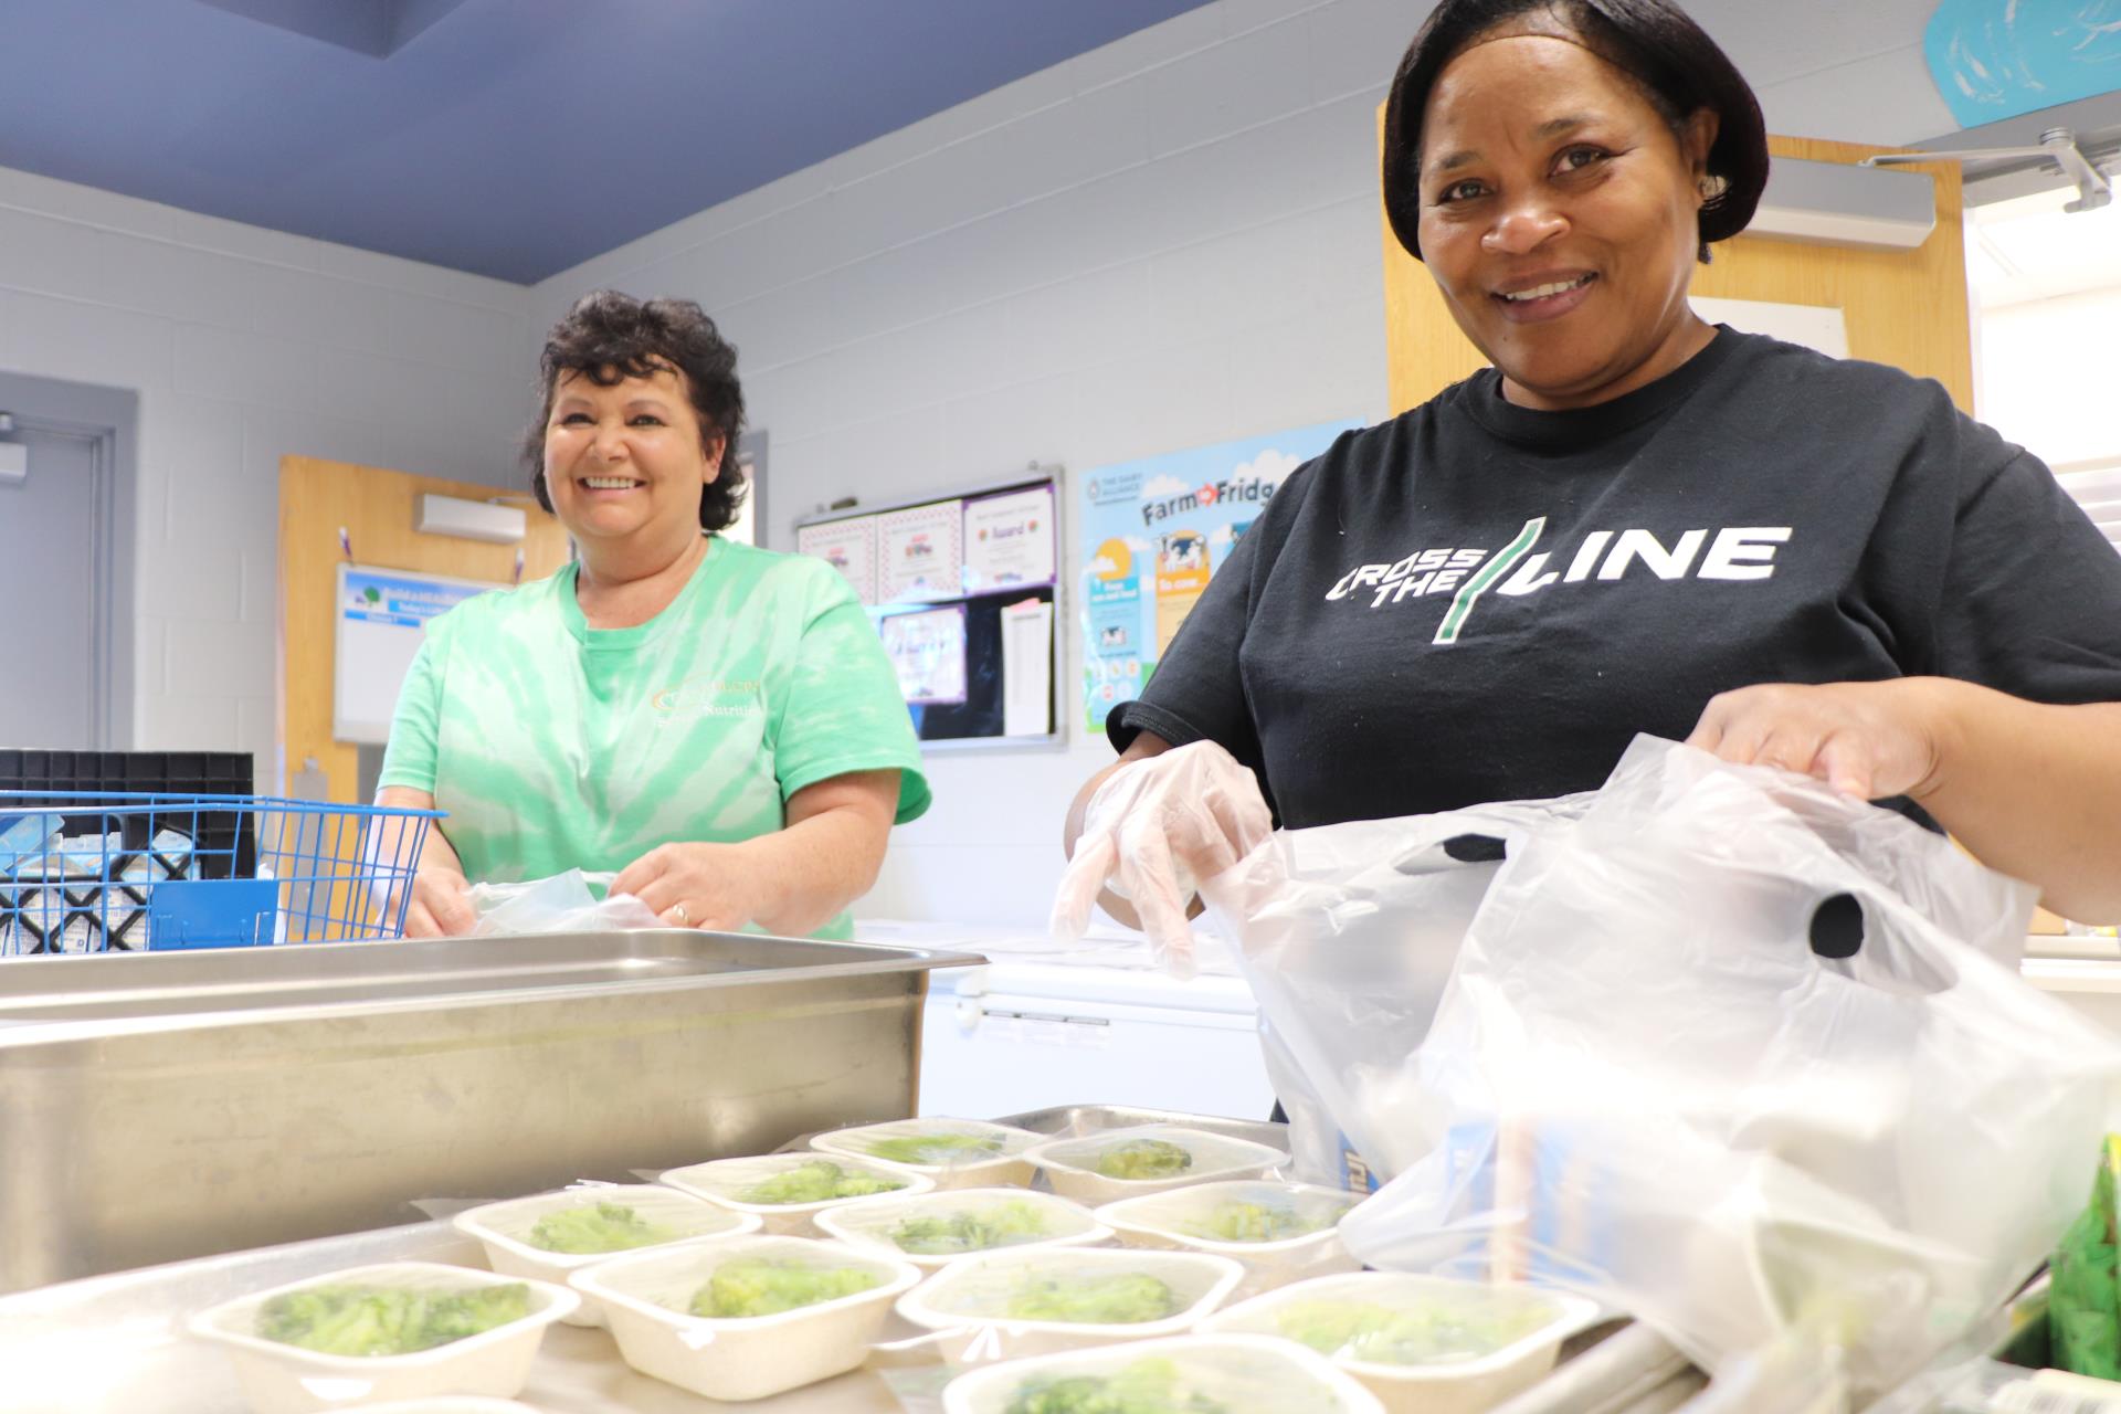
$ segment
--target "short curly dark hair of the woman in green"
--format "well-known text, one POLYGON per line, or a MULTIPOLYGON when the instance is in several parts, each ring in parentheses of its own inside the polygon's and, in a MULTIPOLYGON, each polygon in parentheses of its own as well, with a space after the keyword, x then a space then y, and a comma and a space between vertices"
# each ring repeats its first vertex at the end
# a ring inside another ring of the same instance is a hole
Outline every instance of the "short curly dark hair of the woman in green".
POLYGON ((634 299, 617 290, 596 290, 545 335, 537 371, 541 411, 524 437, 530 490, 551 511, 545 490, 545 424, 562 373, 581 373, 598 388, 626 377, 649 377, 668 367, 685 377, 691 409, 700 416, 700 447, 721 437, 721 475, 700 488, 700 530, 728 530, 744 505, 744 477, 736 466, 736 437, 744 430, 744 388, 736 382, 736 346, 721 337, 706 310, 689 299, 634 299))

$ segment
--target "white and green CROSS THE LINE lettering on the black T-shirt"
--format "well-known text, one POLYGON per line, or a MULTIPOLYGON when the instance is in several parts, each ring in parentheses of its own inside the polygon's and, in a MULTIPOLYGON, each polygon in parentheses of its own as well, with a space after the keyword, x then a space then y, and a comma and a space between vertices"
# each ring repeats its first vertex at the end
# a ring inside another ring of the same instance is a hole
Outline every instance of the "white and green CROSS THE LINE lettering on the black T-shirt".
MULTIPOLYGON (((1625 579, 1629 570, 1657 579, 1773 579, 1775 551, 1790 541, 1790 526, 1724 526, 1722 530, 1686 530, 1665 545, 1650 530, 1591 530, 1574 545, 1567 568, 1555 553, 1533 547, 1546 532, 1546 517, 1527 519, 1523 530, 1497 551, 1487 549, 1417 549, 1389 564, 1357 564, 1326 591, 1328 600, 1347 600, 1366 608, 1385 608, 1410 598, 1451 596, 1432 642, 1453 644, 1466 632, 1474 604, 1485 594, 1521 598, 1553 585, 1601 585, 1625 579)), ((1567 551, 1570 547, 1563 547, 1567 551)), ((1563 553, 1557 551, 1557 553, 1563 553)))

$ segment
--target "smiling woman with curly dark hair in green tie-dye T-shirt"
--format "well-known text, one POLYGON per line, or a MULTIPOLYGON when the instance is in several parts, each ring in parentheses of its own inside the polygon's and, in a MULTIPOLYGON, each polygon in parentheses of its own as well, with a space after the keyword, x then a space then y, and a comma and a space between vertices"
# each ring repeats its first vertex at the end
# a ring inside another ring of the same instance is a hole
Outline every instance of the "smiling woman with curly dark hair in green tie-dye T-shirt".
POLYGON ((715 534, 744 494, 736 350, 691 301, 600 293, 541 379, 526 460, 579 560, 428 625, 378 795, 448 812, 407 935, 469 931, 469 880, 579 867, 674 926, 846 937, 929 786, 846 583, 715 534))

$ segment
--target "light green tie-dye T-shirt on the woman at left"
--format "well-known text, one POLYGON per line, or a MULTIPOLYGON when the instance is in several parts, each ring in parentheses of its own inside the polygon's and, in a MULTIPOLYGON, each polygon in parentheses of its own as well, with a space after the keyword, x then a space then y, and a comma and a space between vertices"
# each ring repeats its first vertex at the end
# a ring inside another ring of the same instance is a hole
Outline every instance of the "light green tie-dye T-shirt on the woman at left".
MULTIPOLYGON (((473 882, 624 869, 781 829, 795 791, 897 767, 929 806, 882 642, 823 560, 713 536, 670 606, 594 630, 575 566, 428 623, 380 782, 431 791, 473 882)), ((819 937, 848 937, 842 912, 819 937)))

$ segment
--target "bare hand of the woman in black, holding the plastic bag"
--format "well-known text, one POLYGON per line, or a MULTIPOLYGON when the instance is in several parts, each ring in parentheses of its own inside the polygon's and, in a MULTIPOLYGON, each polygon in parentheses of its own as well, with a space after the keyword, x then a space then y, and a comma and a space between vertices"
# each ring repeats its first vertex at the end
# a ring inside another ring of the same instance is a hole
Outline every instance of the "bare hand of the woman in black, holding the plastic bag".
POLYGON ((1922 799, 1947 759, 1945 691, 1941 678, 1741 687, 1710 700, 1686 744, 1816 776, 1858 799, 1922 799))

